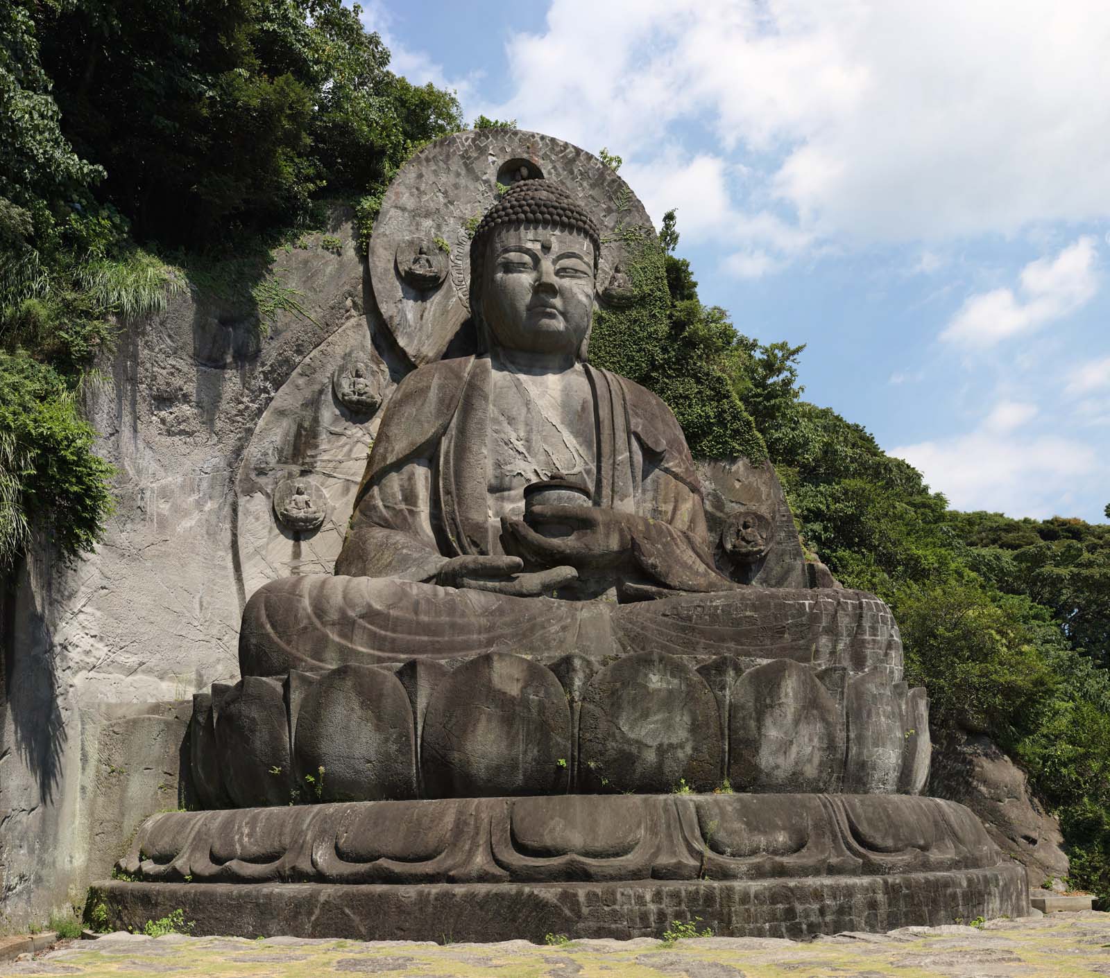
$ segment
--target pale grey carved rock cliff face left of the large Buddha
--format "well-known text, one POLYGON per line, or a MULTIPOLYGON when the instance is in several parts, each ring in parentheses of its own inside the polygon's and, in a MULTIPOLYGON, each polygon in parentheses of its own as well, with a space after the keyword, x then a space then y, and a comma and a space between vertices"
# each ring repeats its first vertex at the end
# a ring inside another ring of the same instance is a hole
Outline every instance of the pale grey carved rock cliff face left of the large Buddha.
MULTIPOLYGON (((117 511, 74 568, 37 548, 0 615, 6 927, 80 900, 147 815, 181 804, 191 703, 179 716, 173 701, 238 679, 243 595, 297 566, 331 570, 373 418, 333 393, 351 386, 344 357, 365 358, 371 344, 350 215, 329 232, 342 254, 317 240, 279 251, 272 269, 302 293, 307 317, 281 312, 263 336, 242 300, 179 295, 121 330, 99 364, 103 383, 88 387, 98 450, 118 469, 117 511), (365 434, 345 438, 355 427, 365 434), (357 457, 343 458, 340 440, 357 457), (317 470, 329 512, 300 539, 275 519, 272 495, 317 470)), ((369 381, 387 395, 389 369, 375 366, 369 381)))

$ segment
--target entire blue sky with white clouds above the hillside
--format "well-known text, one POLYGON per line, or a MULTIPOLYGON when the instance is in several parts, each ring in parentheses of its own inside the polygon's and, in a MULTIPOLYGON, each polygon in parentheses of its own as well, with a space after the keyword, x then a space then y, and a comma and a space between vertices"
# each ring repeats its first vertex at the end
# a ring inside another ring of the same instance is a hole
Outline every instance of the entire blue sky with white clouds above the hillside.
POLYGON ((1110 3, 375 0, 393 67, 624 160, 702 298, 960 509, 1110 502, 1110 3))

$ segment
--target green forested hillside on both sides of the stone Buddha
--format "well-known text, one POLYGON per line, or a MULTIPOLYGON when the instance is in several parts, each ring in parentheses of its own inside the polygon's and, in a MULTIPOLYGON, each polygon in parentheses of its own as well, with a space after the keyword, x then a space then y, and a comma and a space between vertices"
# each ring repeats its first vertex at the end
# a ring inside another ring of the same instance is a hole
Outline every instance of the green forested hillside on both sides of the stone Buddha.
MULTIPOLYGON (((295 299, 271 248, 326 200, 372 234, 396 170, 462 128, 339 0, 0 0, 0 572, 32 531, 72 559, 101 536, 112 473, 80 389, 122 322, 233 277, 264 328, 295 299)), ((1059 814, 1072 884, 1110 898, 1110 527, 949 510, 803 399, 800 347, 704 305, 678 243, 674 212, 638 242, 638 302, 599 314, 592 356, 696 452, 770 457, 809 550, 894 607, 938 730, 998 741, 1059 814)))

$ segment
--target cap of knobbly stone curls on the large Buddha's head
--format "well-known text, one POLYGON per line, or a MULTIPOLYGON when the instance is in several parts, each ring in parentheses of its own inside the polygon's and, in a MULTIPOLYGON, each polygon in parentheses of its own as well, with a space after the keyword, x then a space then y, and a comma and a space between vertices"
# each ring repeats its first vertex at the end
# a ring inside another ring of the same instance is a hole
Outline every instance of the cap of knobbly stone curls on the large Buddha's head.
POLYGON ((597 222, 557 183, 522 180, 512 184, 486 211, 471 240, 471 312, 481 317, 482 274, 486 244, 501 225, 525 224, 584 234, 594 245, 594 274, 602 254, 597 222))

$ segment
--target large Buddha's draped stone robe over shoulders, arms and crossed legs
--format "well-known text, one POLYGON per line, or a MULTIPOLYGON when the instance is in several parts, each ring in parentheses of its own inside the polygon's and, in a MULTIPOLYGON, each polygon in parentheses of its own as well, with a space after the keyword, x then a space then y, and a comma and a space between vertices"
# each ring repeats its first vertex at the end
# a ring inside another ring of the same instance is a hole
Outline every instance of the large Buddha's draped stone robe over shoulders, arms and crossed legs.
POLYGON ((633 534, 630 577, 674 597, 617 604, 432 583, 453 557, 504 552, 490 492, 493 367, 486 356, 442 360, 410 374, 386 408, 335 577, 273 581, 248 602, 243 675, 488 651, 728 652, 900 673, 898 631, 877 599, 740 588, 722 577, 674 415, 643 387, 584 369, 594 401, 592 502, 652 521, 633 534))

